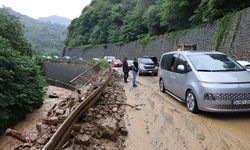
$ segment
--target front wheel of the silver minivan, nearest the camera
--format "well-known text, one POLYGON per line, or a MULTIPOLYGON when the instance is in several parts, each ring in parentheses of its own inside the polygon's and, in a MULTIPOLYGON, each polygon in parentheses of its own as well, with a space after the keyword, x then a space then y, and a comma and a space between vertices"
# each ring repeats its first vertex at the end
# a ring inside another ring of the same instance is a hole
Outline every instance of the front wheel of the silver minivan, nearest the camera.
POLYGON ((194 93, 189 90, 186 94, 186 106, 188 111, 197 114, 199 112, 197 101, 194 93))

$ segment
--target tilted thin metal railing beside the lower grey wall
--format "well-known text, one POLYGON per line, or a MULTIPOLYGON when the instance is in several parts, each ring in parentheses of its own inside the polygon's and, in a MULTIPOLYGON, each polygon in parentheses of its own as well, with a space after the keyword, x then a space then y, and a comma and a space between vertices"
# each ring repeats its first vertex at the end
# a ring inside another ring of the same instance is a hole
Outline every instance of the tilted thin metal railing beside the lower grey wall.
POLYGON ((93 75, 96 75, 101 70, 101 67, 99 65, 95 65, 85 72, 81 73, 79 76, 75 77, 71 81, 69 81, 72 85, 78 85, 78 84, 84 84, 87 83, 93 75))

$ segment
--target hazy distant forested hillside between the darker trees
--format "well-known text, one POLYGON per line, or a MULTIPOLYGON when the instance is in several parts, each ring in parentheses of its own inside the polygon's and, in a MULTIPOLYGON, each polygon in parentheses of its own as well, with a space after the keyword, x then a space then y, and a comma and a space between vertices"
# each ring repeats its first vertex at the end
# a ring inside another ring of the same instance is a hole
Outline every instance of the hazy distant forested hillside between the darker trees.
POLYGON ((6 11, 20 18, 24 26, 24 35, 32 44, 33 54, 52 56, 61 53, 66 38, 66 26, 43 23, 10 8, 0 8, 0 11, 6 11))

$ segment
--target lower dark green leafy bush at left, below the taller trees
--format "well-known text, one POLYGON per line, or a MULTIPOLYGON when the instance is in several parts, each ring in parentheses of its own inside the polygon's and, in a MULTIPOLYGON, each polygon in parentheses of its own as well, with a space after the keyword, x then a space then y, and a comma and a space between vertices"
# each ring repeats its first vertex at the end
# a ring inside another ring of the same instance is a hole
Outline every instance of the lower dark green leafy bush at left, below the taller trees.
POLYGON ((28 56, 0 37, 0 132, 43 103, 45 79, 28 56))

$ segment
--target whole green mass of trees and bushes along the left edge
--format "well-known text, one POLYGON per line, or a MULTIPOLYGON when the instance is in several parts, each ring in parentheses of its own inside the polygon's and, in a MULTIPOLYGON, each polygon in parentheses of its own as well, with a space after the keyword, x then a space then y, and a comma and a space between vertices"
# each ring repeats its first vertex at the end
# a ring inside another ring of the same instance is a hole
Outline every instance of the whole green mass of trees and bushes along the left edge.
POLYGON ((45 79, 18 18, 0 10, 0 133, 43 103, 45 79))

